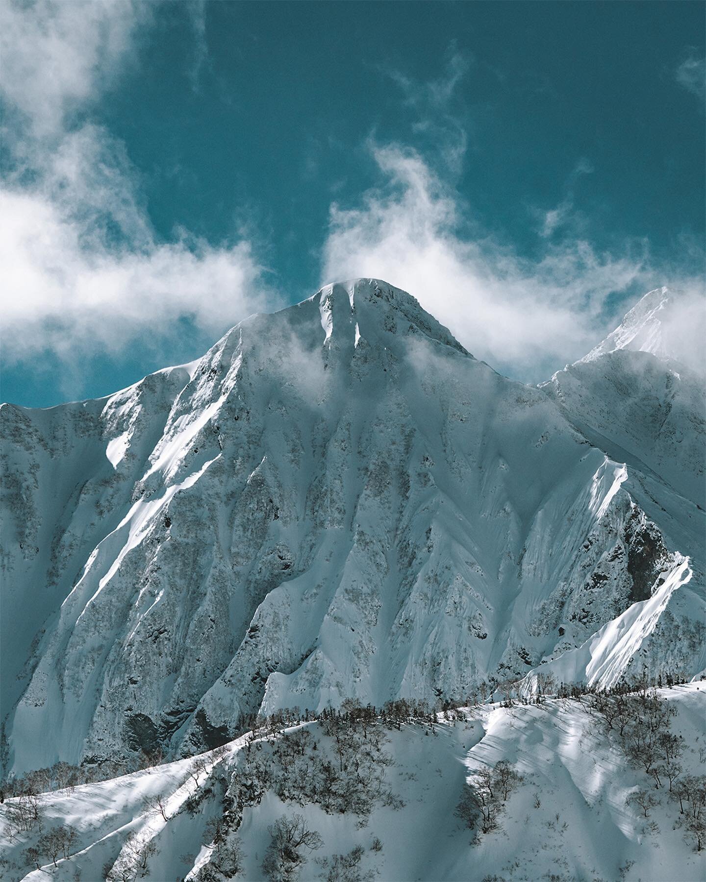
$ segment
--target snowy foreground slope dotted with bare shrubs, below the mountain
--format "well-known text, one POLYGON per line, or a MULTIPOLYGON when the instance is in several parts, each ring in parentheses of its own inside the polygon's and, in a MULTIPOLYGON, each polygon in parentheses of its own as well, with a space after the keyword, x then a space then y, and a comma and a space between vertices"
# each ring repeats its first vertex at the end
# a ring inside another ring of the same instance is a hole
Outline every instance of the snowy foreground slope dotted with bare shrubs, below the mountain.
MULTIPOLYGON (((660 696, 676 711, 670 725, 683 744, 680 775, 699 774, 706 710, 700 684, 662 690, 660 696)), ((617 728, 607 729, 590 712, 586 697, 479 706, 458 716, 400 729, 371 726, 359 741, 371 745, 380 739, 379 751, 371 748, 371 767, 379 773, 382 796, 375 796, 372 785, 361 793, 350 764, 342 778, 356 785, 354 796, 362 802, 351 798, 347 811, 327 803, 326 793, 312 789, 304 777, 308 771, 316 778, 316 770, 325 765, 317 765, 320 760, 337 766, 336 743, 326 734, 325 722, 287 729, 286 736, 260 736, 249 747, 250 739, 240 738, 220 755, 207 753, 41 796, 45 830, 68 824, 77 831, 71 855, 59 857, 56 868, 40 856, 43 869, 32 871, 22 856, 38 840, 38 831, 8 839, 9 800, 0 809, 4 878, 104 878, 110 867, 119 871, 125 857, 141 849, 147 854, 144 862, 138 858, 145 864, 143 878, 221 879, 216 868, 225 866, 227 849, 239 843, 240 855, 233 859, 231 851, 229 864, 237 865, 237 878, 262 879, 272 839, 268 828, 282 816, 291 820, 297 815, 320 837, 318 847, 299 849, 306 858, 299 867, 301 879, 687 882, 703 877, 703 852, 695 851, 693 837, 685 839, 680 805, 670 799, 666 780, 657 789, 639 764, 628 763, 617 728), (371 729, 376 729, 374 738, 371 729), (277 766, 282 757, 287 765, 277 766), (204 762, 195 772, 199 759, 204 762), (506 800, 501 793, 496 797, 496 829, 484 833, 479 822, 471 830, 458 817, 457 806, 469 787, 479 787, 478 773, 497 770, 501 760, 522 781, 514 783, 506 800), (273 781, 267 781, 267 769, 274 769, 273 781), (656 802, 648 806, 647 817, 628 802, 641 790, 656 802), (313 796, 306 796, 310 791, 313 796), (154 807, 157 795, 163 816, 154 807), (214 820, 224 826, 214 826, 214 820), (219 845, 214 830, 220 830, 219 845), (357 847, 362 850, 349 876, 327 875, 335 855, 350 856, 357 847), (208 875, 209 867, 214 875, 208 875)), ((366 770, 367 760, 356 755, 356 768, 366 770)), ((371 780, 375 784, 378 778, 373 774, 371 780)))

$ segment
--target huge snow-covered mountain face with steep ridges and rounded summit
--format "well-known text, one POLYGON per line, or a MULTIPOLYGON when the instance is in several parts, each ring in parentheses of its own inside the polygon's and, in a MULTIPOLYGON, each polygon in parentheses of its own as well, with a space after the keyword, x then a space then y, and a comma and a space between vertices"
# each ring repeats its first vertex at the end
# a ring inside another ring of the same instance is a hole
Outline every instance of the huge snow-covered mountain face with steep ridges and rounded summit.
POLYGON ((606 357, 521 385, 356 280, 108 399, 4 405, 5 766, 543 668, 697 673, 698 397, 650 355, 641 446, 606 357))

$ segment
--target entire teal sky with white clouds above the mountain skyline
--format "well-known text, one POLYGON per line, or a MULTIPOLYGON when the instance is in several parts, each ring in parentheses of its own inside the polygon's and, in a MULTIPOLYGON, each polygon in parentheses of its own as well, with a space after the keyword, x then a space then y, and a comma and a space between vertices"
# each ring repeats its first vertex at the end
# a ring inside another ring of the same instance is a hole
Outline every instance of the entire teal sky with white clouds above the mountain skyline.
POLYGON ((11 4, 3 400, 107 394, 352 275, 526 381, 698 295, 705 8, 11 4))

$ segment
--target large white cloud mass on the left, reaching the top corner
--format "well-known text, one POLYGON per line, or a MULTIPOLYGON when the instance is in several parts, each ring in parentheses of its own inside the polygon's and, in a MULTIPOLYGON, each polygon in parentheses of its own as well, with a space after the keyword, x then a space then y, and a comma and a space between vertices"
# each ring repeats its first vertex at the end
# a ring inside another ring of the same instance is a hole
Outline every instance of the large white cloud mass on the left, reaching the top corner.
POLYGON ((152 10, 129 0, 4 5, 10 161, 0 250, 10 362, 31 366, 48 351, 70 365, 96 352, 118 355, 146 337, 154 347, 184 318, 215 334, 263 303, 252 242, 236 231, 225 243, 188 231, 161 240, 124 144, 90 122, 91 108, 137 56, 152 10))

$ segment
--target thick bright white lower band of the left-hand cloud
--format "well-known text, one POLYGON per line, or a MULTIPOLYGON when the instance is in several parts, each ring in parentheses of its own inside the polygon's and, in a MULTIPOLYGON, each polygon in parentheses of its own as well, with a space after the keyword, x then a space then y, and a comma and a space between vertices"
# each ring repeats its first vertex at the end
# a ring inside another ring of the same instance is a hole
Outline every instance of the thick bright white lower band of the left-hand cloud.
POLYGON ((192 318, 220 333, 228 317, 257 305, 260 267, 248 243, 217 247, 180 241, 145 250, 86 249, 85 228, 49 199, 5 191, 0 209, 4 267, 4 356, 26 360, 49 349, 67 362, 152 342, 192 318))

